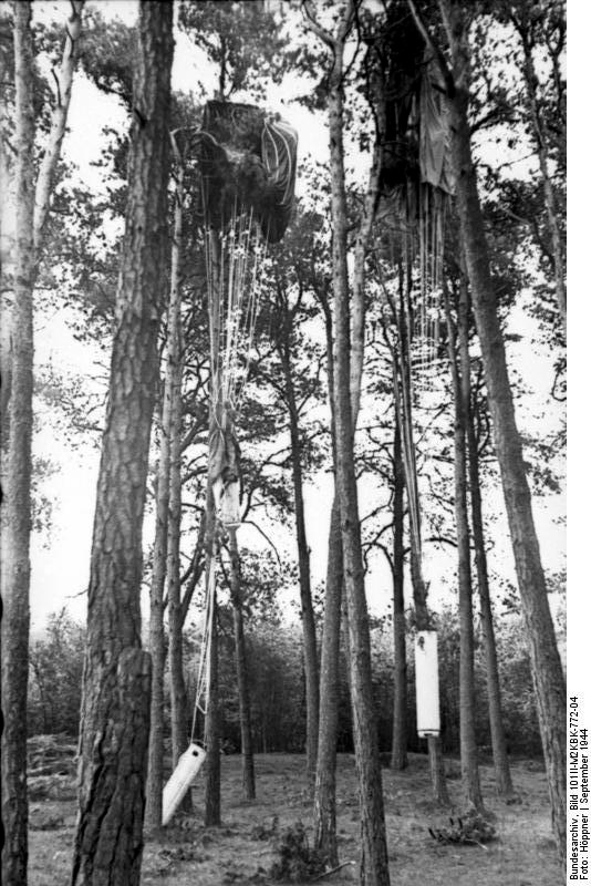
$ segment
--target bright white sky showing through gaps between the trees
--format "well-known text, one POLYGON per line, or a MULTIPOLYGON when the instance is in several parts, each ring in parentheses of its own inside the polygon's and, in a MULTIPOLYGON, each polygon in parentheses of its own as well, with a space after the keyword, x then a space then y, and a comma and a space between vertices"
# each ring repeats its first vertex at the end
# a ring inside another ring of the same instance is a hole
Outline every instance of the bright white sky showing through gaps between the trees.
MULTIPOLYGON (((64 2, 35 3, 38 14, 61 18, 68 9, 64 2)), ((104 0, 97 6, 105 14, 116 13, 127 23, 135 20, 136 3, 131 0, 104 0)), ((204 63, 203 56, 183 35, 177 35, 173 84, 175 89, 190 89, 203 83, 206 92, 212 90, 212 72, 204 63)), ((293 91, 301 92, 301 84, 283 84, 269 91, 268 104, 280 111, 298 128, 301 155, 310 154, 318 159, 328 156, 328 137, 323 121, 313 117, 300 105, 290 102, 293 91)), ((125 114, 114 99, 100 93, 89 81, 77 76, 70 112, 70 133, 64 143, 64 154, 74 161, 81 177, 100 188, 101 182, 92 161, 101 153, 101 130, 106 124, 125 125, 125 114)), ((360 159, 360 163, 362 161, 360 159)), ((588 246, 585 246, 588 249, 588 246)), ((41 318, 37 327, 37 362, 45 365, 52 361, 56 368, 76 374, 92 377, 95 369, 96 354, 76 342, 68 329, 66 318, 56 313, 53 318, 41 318)), ((509 357, 512 365, 518 367, 526 385, 532 390, 527 406, 522 405, 522 414, 518 416, 520 426, 540 433, 556 429, 559 413, 556 404, 548 402, 548 392, 552 381, 551 358, 543 348, 531 346, 535 332, 531 321, 522 310, 516 310, 512 318, 514 328, 519 330, 523 340, 511 344, 509 357), (526 414, 527 409, 527 414, 526 414), (535 419, 533 416, 538 416, 535 419)), ((579 401, 584 402, 584 401, 579 401)), ((362 415, 363 422, 363 415, 362 415)), ((89 577, 90 546, 94 511, 94 495, 97 476, 97 453, 90 446, 72 452, 60 440, 50 425, 44 425, 35 435, 35 451, 39 454, 51 454, 59 464, 56 475, 46 482, 46 492, 55 497, 53 513, 54 528, 51 538, 35 536, 32 547, 32 617, 33 628, 40 628, 46 615, 68 605, 76 617, 85 617, 85 598, 80 593, 86 587, 89 577)), ((362 482, 360 488, 361 507, 365 513, 372 507, 374 491, 371 484, 362 482)), ((332 497, 332 480, 322 475, 305 490, 308 535, 311 545, 311 564, 314 581, 324 577, 329 508, 332 497)), ((562 495, 537 499, 536 522, 542 549, 542 558, 548 570, 557 570, 564 565, 566 534, 556 518, 564 511, 562 495)), ((488 498, 494 511, 501 509, 501 499, 497 495, 488 498)), ((259 546, 260 539, 253 530, 243 527, 241 543, 259 546)), ((149 540, 152 522, 146 524, 145 537, 149 540)), ((296 554, 294 538, 284 530, 279 533, 280 546, 296 554)), ((496 528, 494 568, 501 575, 514 578, 512 555, 505 524, 496 528)), ((427 565, 432 580, 432 600, 434 604, 449 597, 453 588, 455 556, 444 552, 434 555, 427 565), (446 587, 447 585, 447 587, 446 587)), ((384 611, 391 599, 390 575, 381 559, 376 557, 367 578, 369 599, 376 612, 384 611)))

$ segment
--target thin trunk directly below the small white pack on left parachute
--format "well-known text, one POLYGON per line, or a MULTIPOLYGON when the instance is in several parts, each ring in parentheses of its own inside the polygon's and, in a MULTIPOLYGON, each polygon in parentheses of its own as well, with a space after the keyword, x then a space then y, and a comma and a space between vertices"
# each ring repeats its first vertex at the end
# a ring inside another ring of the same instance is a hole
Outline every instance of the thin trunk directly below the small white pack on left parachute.
POLYGON ((255 754, 252 752, 252 728, 250 723, 250 698, 248 692, 248 667, 242 617, 242 587, 240 577, 240 555, 236 529, 229 530, 230 580, 234 617, 234 649, 236 657, 236 681, 238 683, 238 705, 240 709, 240 740, 242 751, 242 793, 246 800, 257 796, 255 784, 255 754))

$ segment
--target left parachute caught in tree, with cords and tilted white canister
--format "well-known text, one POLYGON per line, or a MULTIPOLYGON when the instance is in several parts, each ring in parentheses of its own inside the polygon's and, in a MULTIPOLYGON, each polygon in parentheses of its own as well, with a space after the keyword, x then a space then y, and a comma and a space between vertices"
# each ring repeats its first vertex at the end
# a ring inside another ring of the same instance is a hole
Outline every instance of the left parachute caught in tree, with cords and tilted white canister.
POLYGON ((206 759, 196 739, 208 711, 216 611, 217 529, 241 523, 240 447, 236 435, 259 312, 269 244, 278 243, 294 205, 298 135, 278 115, 211 101, 197 133, 209 311, 208 484, 215 506, 206 569, 204 630, 187 751, 164 789, 168 824, 206 759), (201 715, 199 718, 199 714, 201 715))

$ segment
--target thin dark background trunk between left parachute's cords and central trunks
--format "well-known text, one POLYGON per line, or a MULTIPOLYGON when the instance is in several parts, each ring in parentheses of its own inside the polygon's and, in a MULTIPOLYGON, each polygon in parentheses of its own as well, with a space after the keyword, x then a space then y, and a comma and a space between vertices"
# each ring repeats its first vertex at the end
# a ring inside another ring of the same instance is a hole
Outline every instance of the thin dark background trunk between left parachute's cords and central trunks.
MULTIPOLYGON (((288 331, 288 336, 291 329, 288 331)), ((293 390, 291 353, 287 337, 279 346, 281 365, 286 381, 286 400, 289 412, 291 440, 291 471, 293 476, 293 501, 296 505, 296 536, 298 539, 298 564, 300 570, 300 600, 303 633, 303 664, 305 679, 305 754, 308 779, 313 781, 318 756, 319 729, 319 674, 318 647, 312 588, 310 583, 310 549, 305 535, 305 514, 303 504, 303 472, 300 443, 299 414, 293 390)))

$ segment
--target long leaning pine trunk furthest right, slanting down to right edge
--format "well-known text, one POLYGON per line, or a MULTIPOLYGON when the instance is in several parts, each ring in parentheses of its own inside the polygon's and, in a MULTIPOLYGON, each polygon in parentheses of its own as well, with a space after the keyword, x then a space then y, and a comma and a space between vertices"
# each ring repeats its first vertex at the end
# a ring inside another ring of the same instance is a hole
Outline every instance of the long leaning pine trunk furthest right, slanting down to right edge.
MULTIPOLYGON (((464 75, 469 50, 464 42, 453 43, 455 66, 464 75)), ((560 856, 567 858, 567 760, 564 676, 548 605, 546 578, 531 511, 531 497, 515 421, 511 387, 507 372, 505 342, 497 315, 497 298, 490 278, 488 244, 485 234, 476 173, 471 159, 467 117, 468 93, 462 79, 450 103, 453 111, 453 158, 456 169, 456 202, 460 234, 473 296, 476 327, 492 419, 517 579, 529 641, 531 673, 540 733, 546 759, 552 826, 560 856)))

